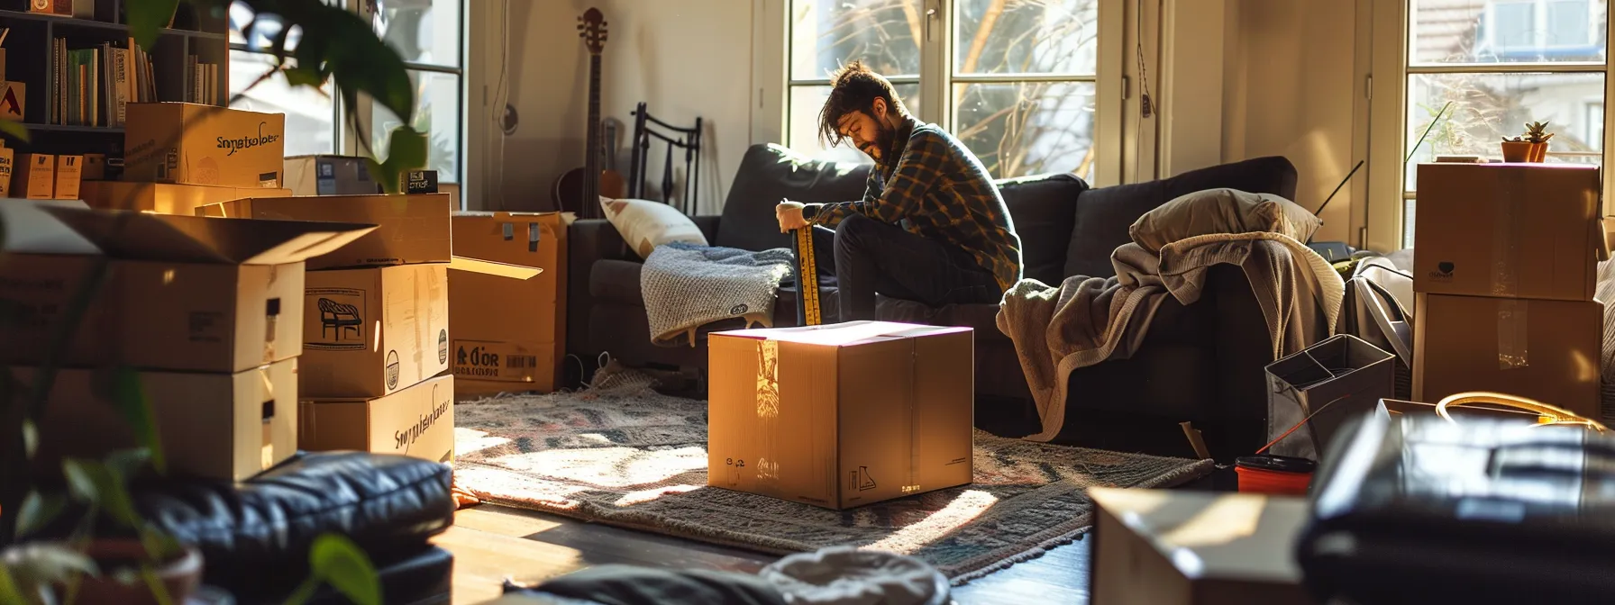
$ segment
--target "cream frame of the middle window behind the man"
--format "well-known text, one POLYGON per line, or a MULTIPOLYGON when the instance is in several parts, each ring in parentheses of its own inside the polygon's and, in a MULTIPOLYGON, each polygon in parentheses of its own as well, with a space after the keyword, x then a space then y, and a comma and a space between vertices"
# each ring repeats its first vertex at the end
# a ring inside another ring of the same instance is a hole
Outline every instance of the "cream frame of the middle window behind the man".
MULTIPOLYGON (((956 129, 953 89, 956 84, 1021 84, 1021 82, 1092 82, 1095 89, 1093 145, 1095 177, 1092 186, 1122 182, 1126 61, 1119 60, 1127 37, 1130 11, 1127 0, 1095 0, 1100 31, 1093 74, 956 74, 953 42, 956 32, 953 0, 922 0, 924 40, 921 40, 921 73, 891 77, 891 84, 917 84, 921 106, 917 118, 956 129), (937 100, 946 100, 945 103, 937 100)), ((757 82, 751 123, 753 144, 785 145, 790 134, 790 97, 795 87, 828 86, 828 77, 795 77, 790 66, 790 0, 753 2, 753 82, 757 82)), ((1130 56, 1130 55, 1127 55, 1130 56)), ((1151 69, 1155 66, 1151 65, 1151 69)), ((1132 163, 1135 165, 1135 158, 1132 163)), ((1135 166, 1134 166, 1135 168, 1135 166)))

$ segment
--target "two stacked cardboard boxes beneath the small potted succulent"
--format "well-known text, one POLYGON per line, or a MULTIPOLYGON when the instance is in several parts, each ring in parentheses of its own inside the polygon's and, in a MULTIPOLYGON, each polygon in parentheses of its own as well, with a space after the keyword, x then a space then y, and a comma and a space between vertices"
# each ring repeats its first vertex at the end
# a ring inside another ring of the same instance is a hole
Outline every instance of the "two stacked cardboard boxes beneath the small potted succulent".
POLYGON ((1413 398, 1487 390, 1600 418, 1599 168, 1420 165, 1413 398))

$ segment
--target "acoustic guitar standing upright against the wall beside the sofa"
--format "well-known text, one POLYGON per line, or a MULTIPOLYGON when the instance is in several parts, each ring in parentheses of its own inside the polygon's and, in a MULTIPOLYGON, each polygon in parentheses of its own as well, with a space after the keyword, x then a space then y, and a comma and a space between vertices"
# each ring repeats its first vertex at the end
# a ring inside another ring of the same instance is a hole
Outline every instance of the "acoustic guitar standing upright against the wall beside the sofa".
POLYGON ((601 169, 601 53, 606 50, 606 16, 599 8, 589 8, 578 18, 578 37, 589 50, 589 121, 585 139, 583 168, 573 168, 556 179, 552 192, 556 208, 577 213, 578 218, 604 218, 601 195, 619 198, 627 195, 622 174, 601 169))

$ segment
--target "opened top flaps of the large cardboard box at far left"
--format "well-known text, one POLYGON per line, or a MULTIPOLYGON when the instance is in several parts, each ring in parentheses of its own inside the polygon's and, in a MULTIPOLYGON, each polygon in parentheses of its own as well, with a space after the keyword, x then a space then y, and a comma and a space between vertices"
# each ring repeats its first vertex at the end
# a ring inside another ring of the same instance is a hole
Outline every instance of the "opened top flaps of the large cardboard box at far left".
POLYGON ((373 224, 221 219, 128 210, 45 208, 102 253, 179 263, 281 265, 336 250, 373 224))

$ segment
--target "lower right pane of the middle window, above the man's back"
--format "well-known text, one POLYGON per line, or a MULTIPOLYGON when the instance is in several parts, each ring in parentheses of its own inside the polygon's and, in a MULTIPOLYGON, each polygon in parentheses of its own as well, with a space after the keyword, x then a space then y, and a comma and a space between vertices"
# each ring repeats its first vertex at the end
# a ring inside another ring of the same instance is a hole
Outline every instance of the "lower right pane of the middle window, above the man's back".
POLYGON ((1093 84, 958 84, 954 134, 998 179, 1093 177, 1093 84))

